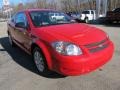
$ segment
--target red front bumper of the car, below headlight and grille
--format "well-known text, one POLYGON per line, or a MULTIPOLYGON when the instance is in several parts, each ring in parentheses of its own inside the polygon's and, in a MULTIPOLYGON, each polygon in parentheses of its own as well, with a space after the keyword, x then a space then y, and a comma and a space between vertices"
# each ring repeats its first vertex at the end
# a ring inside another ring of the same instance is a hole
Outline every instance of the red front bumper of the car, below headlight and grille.
POLYGON ((104 50, 83 56, 59 56, 54 55, 54 70, 66 76, 81 75, 93 70, 107 63, 114 51, 112 42, 109 47, 104 50))

